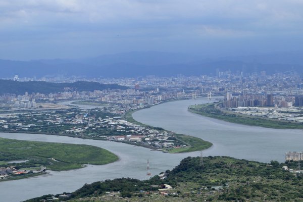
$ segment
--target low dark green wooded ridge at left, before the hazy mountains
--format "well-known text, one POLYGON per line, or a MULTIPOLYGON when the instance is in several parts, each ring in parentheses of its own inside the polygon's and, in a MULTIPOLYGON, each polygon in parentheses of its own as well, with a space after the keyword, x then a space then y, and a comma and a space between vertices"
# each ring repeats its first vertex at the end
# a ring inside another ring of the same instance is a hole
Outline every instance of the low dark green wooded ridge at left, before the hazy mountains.
POLYGON ((74 83, 50 83, 44 81, 19 82, 0 80, 0 95, 4 93, 24 94, 25 92, 56 93, 63 92, 64 88, 78 91, 93 91, 104 89, 126 89, 126 86, 117 84, 102 84, 97 82, 77 81, 74 83))

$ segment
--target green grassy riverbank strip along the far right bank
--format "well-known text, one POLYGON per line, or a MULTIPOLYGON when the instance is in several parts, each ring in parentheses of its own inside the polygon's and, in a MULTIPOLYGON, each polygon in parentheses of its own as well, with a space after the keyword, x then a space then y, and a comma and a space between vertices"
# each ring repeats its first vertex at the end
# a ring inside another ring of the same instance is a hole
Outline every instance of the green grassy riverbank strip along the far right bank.
POLYGON ((238 114, 220 109, 218 104, 219 103, 191 105, 188 107, 188 111, 202 116, 237 124, 275 129, 303 129, 303 124, 300 123, 238 114))

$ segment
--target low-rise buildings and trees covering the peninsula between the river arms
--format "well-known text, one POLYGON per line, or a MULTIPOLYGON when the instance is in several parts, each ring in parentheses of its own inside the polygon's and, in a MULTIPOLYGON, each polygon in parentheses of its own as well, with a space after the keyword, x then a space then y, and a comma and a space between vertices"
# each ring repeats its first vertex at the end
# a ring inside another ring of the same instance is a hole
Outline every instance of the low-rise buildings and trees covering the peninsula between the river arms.
MULTIPOLYGON (((0 131, 56 133, 115 141, 129 141, 155 148, 186 147, 168 132, 127 122, 121 116, 144 108, 135 104, 115 104, 95 109, 32 110, 2 114, 0 131)), ((0 117, 0 118, 1 118, 0 117)))

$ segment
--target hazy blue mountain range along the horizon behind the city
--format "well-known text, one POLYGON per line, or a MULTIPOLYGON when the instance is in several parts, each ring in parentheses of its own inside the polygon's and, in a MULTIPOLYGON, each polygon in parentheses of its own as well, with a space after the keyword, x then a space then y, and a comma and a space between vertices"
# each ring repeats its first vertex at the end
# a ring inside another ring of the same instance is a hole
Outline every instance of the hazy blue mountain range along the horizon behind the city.
POLYGON ((251 56, 205 59, 198 55, 162 52, 131 52, 103 55, 90 59, 9 61, 0 60, 0 78, 13 77, 54 77, 80 76, 99 77, 138 77, 146 75, 185 76, 215 74, 231 70, 267 71, 268 73, 289 70, 303 71, 303 51, 251 56))

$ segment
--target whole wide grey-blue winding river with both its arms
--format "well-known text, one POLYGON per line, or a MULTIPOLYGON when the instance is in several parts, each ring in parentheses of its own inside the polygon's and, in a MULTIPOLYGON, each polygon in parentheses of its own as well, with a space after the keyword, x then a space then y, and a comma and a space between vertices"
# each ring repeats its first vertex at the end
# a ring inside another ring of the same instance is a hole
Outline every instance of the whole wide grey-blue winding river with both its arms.
MULTIPOLYGON (((289 150, 302 150, 302 130, 279 130, 244 126, 206 118, 187 111, 189 105, 206 103, 207 100, 180 100, 137 111, 133 117, 142 123, 193 135, 214 146, 204 150, 204 156, 231 156, 239 159, 269 162, 284 161, 289 150)), ((146 160, 151 172, 159 174, 172 169, 188 156, 199 152, 168 154, 150 151, 148 148, 119 142, 79 139, 65 136, 0 133, 0 137, 46 142, 62 142, 99 146, 118 155, 120 160, 108 165, 87 167, 71 171, 49 171, 45 176, 0 182, 1 201, 21 201, 44 194, 71 192, 85 183, 132 177, 146 179, 146 160)))

